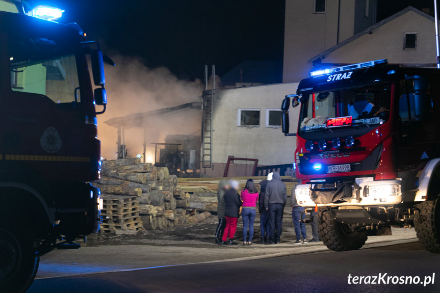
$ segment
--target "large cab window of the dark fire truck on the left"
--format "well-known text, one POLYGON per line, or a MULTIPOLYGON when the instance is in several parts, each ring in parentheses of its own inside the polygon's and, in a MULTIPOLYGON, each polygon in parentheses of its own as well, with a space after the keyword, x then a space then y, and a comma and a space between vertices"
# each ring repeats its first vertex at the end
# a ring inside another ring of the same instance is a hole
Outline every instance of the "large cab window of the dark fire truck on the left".
POLYGON ((79 78, 73 54, 52 40, 16 40, 11 46, 10 74, 13 91, 47 96, 55 103, 80 102, 79 78))

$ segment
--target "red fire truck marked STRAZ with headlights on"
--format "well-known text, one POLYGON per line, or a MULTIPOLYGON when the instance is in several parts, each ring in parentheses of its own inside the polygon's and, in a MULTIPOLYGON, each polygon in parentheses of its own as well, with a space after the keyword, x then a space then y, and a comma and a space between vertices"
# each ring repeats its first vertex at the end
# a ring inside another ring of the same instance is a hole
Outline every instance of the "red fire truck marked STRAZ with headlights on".
POLYGON ((377 60, 312 72, 283 100, 301 105, 295 150, 298 203, 319 211, 331 250, 415 226, 440 253, 440 70, 377 60))

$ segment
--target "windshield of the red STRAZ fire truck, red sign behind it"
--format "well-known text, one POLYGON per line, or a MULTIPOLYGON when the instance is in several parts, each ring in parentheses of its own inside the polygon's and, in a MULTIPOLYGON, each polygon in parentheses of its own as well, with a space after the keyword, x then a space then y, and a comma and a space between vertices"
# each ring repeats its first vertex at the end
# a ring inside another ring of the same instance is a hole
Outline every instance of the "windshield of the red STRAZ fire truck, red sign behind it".
POLYGON ((304 94, 300 133, 381 124, 389 118, 391 84, 304 94))

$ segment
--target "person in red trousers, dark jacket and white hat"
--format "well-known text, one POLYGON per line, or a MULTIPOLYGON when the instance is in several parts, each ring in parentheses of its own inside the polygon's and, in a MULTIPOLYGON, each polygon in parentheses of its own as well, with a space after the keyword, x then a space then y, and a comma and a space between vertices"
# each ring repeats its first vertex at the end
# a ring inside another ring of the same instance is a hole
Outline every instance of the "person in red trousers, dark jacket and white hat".
POLYGON ((225 192, 223 200, 225 202, 225 219, 226 227, 224 229, 222 244, 236 245, 234 242, 234 235, 237 231, 237 221, 240 217, 240 206, 242 205, 240 195, 237 193, 240 188, 240 182, 236 180, 230 181, 230 188, 225 192), (226 243, 226 239, 229 242, 226 243))

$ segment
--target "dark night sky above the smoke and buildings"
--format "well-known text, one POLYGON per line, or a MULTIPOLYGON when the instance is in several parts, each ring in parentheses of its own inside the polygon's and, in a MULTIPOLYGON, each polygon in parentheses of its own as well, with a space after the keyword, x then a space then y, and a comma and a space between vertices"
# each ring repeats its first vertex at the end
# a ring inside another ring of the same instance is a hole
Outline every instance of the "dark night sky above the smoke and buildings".
MULTIPOLYGON (((304 0, 312 1, 312 0, 304 0)), ((223 75, 242 61, 282 60, 284 0, 31 0, 65 9, 108 55, 140 58, 179 78, 203 78, 204 65, 223 75)), ((378 21, 432 0, 379 0, 378 21)))

